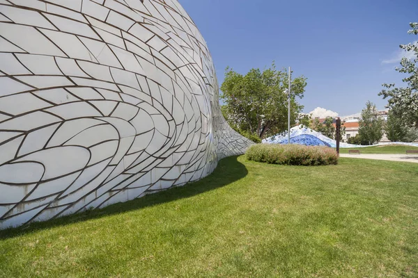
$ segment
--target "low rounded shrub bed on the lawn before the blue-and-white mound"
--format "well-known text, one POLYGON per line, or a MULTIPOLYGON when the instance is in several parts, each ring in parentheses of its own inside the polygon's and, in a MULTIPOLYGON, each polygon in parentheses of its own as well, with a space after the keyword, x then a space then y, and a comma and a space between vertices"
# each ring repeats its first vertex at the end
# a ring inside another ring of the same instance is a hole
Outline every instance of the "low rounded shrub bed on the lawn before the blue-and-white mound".
POLYGON ((338 163, 338 154, 330 147, 258 144, 246 152, 249 161, 284 165, 330 165, 338 163))

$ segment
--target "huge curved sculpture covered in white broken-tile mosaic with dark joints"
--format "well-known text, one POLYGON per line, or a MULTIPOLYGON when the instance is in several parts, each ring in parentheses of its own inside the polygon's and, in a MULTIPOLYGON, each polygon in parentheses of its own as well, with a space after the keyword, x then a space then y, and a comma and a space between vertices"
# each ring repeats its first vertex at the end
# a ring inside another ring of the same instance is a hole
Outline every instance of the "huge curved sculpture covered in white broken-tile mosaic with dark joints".
POLYGON ((176 0, 0 1, 0 229, 206 177, 251 142, 176 0))

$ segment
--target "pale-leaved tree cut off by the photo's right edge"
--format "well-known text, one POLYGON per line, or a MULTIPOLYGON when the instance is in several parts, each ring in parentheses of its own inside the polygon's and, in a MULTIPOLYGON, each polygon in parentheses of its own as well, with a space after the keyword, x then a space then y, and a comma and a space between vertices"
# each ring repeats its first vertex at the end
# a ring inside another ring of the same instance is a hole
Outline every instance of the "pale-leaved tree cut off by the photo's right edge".
MULTIPOLYGON (((408 33, 418 35, 418 23, 410 23, 412 30, 408 33)), ((402 81, 406 83, 404 88, 394 88, 395 84, 383 84, 385 90, 379 95, 384 99, 389 98, 388 107, 395 111, 403 121, 403 124, 418 128, 418 42, 401 44, 401 49, 412 52, 415 58, 402 58, 401 67, 396 67, 397 72, 408 74, 402 81)))

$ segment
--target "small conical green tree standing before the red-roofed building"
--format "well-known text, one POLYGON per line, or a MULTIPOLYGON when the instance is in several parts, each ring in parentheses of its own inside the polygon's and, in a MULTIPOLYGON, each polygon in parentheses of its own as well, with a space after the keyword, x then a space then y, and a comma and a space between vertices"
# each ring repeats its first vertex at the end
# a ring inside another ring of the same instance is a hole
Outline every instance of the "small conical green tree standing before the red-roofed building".
POLYGON ((359 137, 362 145, 373 145, 382 139, 383 125, 385 121, 378 117, 376 105, 371 101, 366 102, 366 108, 362 111, 362 119, 359 121, 359 137))

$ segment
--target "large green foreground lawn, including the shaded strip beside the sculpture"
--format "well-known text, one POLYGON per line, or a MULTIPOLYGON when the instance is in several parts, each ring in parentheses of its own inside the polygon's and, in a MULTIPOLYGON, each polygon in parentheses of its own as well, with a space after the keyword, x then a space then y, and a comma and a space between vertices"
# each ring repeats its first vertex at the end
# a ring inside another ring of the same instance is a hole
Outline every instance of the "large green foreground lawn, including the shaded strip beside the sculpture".
POLYGON ((418 165, 226 158, 183 188, 0 231, 0 277, 418 277, 418 165))

